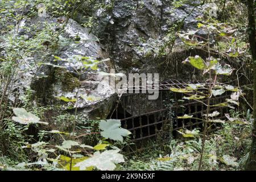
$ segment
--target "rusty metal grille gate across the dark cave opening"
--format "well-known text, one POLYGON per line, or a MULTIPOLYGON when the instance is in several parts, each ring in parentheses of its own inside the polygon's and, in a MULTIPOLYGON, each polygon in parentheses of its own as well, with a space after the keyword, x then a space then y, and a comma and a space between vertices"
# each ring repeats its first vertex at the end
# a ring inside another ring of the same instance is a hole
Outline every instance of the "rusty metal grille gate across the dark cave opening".
MULTIPOLYGON (((199 82, 197 82, 199 83, 199 82)), ((170 88, 186 88, 191 82, 183 81, 166 81, 157 85, 159 89, 158 100, 147 100, 147 94, 133 93, 123 94, 114 108, 113 113, 109 116, 112 119, 121 119, 122 127, 133 133, 132 141, 138 142, 144 139, 155 139, 159 135, 161 137, 170 135, 170 130, 164 130, 164 126, 171 126, 172 133, 179 129, 203 128, 203 122, 199 119, 177 119, 178 116, 188 114, 195 118, 201 118, 207 110, 207 106, 198 101, 184 101, 183 93, 171 92, 170 88), (174 105, 166 105, 169 99, 174 100, 174 105), (140 102, 143 100, 143 102, 140 102), (153 105, 153 106, 152 106, 153 105), (147 108, 144 108, 144 107, 147 108), (148 108, 149 106, 152 106, 148 108), (144 111, 146 110, 146 112, 144 111), (172 115, 170 115, 170 111, 172 115)), ((134 89, 134 88, 133 88, 134 89)), ((147 89, 141 86, 139 90, 147 89)), ((230 97, 230 93, 226 92, 224 96, 213 97, 212 105, 225 102, 230 97)), ((206 101, 204 103, 206 104, 206 101)), ((226 107, 212 107, 210 111, 219 111, 220 117, 224 118, 226 107)), ((216 127, 212 127, 212 130, 216 127)))

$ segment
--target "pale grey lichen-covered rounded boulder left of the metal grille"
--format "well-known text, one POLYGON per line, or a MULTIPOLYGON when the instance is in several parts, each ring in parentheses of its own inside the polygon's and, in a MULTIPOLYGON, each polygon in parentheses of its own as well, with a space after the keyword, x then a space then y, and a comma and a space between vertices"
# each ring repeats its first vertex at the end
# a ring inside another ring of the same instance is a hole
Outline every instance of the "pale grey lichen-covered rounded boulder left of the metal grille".
MULTIPOLYGON (((108 83, 102 83, 97 72, 108 72, 108 62, 99 64, 98 69, 93 70, 85 68, 82 61, 72 57, 77 55, 77 57, 86 56, 88 60, 101 60, 103 58, 101 47, 96 36, 89 34, 87 28, 81 27, 72 19, 47 16, 22 20, 16 36, 30 40, 35 36, 35 32, 43 31, 49 25, 52 26, 53 34, 58 35, 57 48, 46 51, 43 64, 40 66, 42 52, 35 52, 34 57, 24 57, 26 64, 19 64, 18 76, 14 80, 12 91, 14 94, 11 95, 10 100, 14 102, 16 97, 23 96, 28 87, 36 91, 37 98, 42 102, 46 102, 49 98, 57 100, 56 97, 74 99, 79 93, 77 107, 85 117, 106 118, 113 107, 115 94, 108 83), (36 29, 27 31, 27 27, 31 29, 36 27, 36 29), (69 61, 54 61, 52 55, 69 59, 69 61), (77 71, 81 73, 80 76, 77 71), (97 89, 99 83, 104 84, 104 90, 97 89), (89 99, 86 99, 87 97, 89 99)), ((52 46, 48 40, 46 44, 48 47, 52 46)), ((75 107, 72 103, 67 105, 69 108, 75 107)))

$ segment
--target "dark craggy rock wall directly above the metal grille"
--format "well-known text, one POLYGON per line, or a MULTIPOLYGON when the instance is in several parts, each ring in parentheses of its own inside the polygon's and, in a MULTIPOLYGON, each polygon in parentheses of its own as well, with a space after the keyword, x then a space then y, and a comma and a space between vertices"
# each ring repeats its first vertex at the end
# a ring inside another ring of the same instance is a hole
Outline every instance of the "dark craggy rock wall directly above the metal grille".
MULTIPOLYGON (((180 63, 189 52, 173 51, 174 57, 170 57, 160 49, 167 46, 170 36, 167 34, 178 22, 184 21, 181 30, 196 29, 195 19, 202 15, 203 8, 199 6, 194 9, 193 5, 200 2, 192 2, 191 6, 174 8, 171 1, 165 0, 114 1, 111 12, 101 11, 97 14, 99 24, 92 32, 102 39, 118 71, 160 73, 160 80, 182 77, 184 74, 177 73, 184 70, 180 63), (103 27, 101 19, 105 19, 103 27), (99 32, 98 27, 102 31, 99 32)), ((176 32, 170 34, 175 37, 176 32)), ((188 79, 192 76, 192 70, 189 67, 187 69, 190 72, 188 79)))

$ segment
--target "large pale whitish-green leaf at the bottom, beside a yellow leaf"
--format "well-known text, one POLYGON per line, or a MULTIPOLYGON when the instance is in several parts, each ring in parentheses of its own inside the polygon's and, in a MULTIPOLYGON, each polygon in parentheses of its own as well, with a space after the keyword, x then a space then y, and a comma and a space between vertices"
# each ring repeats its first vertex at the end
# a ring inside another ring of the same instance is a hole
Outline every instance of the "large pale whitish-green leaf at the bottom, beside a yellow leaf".
POLYGON ((80 170, 84 170, 90 166, 94 166, 101 171, 113 171, 115 164, 125 162, 122 154, 118 154, 120 150, 106 150, 102 153, 95 152, 94 155, 80 163, 77 163, 75 167, 80 167, 80 170))

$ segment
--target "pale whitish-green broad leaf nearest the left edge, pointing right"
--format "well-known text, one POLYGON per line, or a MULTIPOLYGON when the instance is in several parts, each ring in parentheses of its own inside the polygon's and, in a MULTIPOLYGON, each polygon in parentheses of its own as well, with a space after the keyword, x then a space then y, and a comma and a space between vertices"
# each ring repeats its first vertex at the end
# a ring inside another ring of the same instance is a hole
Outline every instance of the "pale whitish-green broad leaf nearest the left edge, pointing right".
POLYGON ((24 108, 14 108, 14 116, 12 119, 20 124, 28 125, 30 123, 41 123, 48 125, 47 122, 40 122, 40 118, 32 113, 28 113, 24 108))

